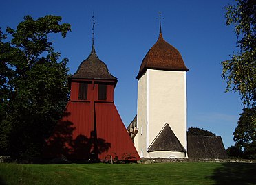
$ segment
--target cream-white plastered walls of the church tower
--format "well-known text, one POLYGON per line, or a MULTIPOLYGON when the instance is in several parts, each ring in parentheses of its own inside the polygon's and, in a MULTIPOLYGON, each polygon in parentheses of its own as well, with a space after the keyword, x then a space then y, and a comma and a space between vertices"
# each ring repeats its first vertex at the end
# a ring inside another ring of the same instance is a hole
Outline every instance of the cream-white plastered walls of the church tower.
MULTIPOLYGON (((165 123, 168 123, 185 149, 186 72, 147 69, 138 80, 137 126, 134 140, 140 157, 168 158, 170 153, 147 153, 165 123), (160 155, 160 156, 158 156, 160 155)), ((184 154, 183 158, 184 158, 184 154)), ((177 156, 182 158, 180 154, 177 156)))

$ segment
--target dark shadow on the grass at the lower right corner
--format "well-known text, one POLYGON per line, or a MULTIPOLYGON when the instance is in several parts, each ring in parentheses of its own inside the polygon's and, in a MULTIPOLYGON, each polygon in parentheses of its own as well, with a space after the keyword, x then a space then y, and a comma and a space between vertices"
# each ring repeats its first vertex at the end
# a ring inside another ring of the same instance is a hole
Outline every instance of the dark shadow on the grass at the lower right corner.
POLYGON ((223 163, 215 169, 211 179, 216 184, 256 184, 255 171, 255 163, 223 163))

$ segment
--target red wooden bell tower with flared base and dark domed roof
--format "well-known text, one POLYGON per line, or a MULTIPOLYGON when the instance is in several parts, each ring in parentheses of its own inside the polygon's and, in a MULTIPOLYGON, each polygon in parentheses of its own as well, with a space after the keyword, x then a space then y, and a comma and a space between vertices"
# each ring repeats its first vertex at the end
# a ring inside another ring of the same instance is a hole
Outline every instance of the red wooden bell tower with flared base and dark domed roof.
POLYGON ((139 156, 114 105, 117 79, 96 55, 89 57, 70 77, 71 94, 63 119, 48 140, 52 157, 75 160, 138 160, 139 156))

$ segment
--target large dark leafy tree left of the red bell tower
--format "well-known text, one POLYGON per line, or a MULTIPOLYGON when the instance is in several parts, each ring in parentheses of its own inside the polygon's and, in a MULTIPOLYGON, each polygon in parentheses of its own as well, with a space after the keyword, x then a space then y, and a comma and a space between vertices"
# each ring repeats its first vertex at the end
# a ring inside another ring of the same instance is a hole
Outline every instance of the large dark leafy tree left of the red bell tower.
POLYGON ((0 29, 0 155, 39 156, 69 93, 67 58, 59 61, 50 34, 65 38, 70 24, 60 16, 25 16, 17 29, 0 29))

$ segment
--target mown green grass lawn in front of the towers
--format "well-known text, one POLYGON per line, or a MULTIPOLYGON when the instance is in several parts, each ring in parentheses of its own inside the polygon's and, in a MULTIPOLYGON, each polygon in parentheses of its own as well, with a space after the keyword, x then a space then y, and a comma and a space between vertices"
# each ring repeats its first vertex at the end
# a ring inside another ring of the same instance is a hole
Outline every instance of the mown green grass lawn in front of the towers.
POLYGON ((0 164, 0 184, 256 184, 256 164, 0 164))

